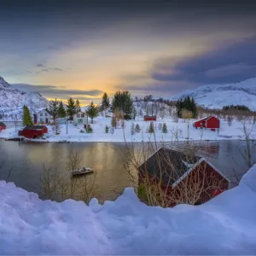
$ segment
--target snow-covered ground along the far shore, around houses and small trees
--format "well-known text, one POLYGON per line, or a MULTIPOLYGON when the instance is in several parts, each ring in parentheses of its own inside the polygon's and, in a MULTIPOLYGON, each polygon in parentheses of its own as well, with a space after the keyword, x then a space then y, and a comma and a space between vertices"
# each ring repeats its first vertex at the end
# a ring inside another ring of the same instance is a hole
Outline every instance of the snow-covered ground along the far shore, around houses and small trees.
MULTIPOLYGON (((209 131, 195 129, 193 127, 193 121, 189 121, 189 140, 226 140, 226 139, 243 139, 242 125, 241 122, 234 120, 231 126, 224 120, 221 121, 221 128, 219 131, 209 131)), ((51 126, 48 126, 48 138, 46 140, 41 140, 44 142, 58 142, 60 140, 67 140, 69 142, 113 142, 120 143, 124 142, 147 142, 149 139, 154 141, 154 135, 147 133, 147 128, 150 122, 145 122, 143 119, 131 120, 125 122, 125 129, 117 128, 114 130, 113 134, 106 133, 106 125, 110 126, 111 119, 98 117, 94 120, 92 124, 93 133, 82 133, 80 130, 84 130, 82 125, 74 126, 73 124, 68 124, 61 126, 61 134, 55 135, 52 131, 51 126), (135 133, 131 136, 131 124, 138 124, 141 126, 141 131, 135 133)), ((172 119, 158 119, 154 122, 155 126, 155 139, 158 142, 163 141, 186 141, 188 137, 188 122, 183 119, 179 119, 178 122, 174 122, 172 119), (168 133, 162 133, 159 130, 159 124, 166 123, 168 133)), ((251 129, 252 123, 247 122, 247 129, 251 129)), ((15 126, 9 127, 0 132, 0 137, 17 137, 17 132, 15 132, 15 126)), ((251 138, 256 138, 256 125, 253 127, 251 133, 251 138)), ((40 140, 38 140, 40 141, 40 140)))

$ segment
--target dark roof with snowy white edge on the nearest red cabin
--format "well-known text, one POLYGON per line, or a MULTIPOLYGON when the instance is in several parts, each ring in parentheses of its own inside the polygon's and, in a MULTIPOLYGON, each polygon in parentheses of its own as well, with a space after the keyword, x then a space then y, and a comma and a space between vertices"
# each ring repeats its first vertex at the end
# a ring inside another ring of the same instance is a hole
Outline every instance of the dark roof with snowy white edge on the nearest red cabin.
MULTIPOLYGON (((149 177, 161 178, 164 185, 172 185, 174 187, 184 177, 187 177, 196 166, 199 166, 202 161, 212 166, 205 158, 192 154, 191 150, 189 152, 189 149, 185 149, 185 151, 180 152, 169 148, 160 148, 138 169, 140 172, 148 173, 149 177), (187 153, 185 152, 186 150, 188 151, 187 153)), ((225 177, 215 166, 212 166, 212 168, 230 182, 230 179, 225 177)))

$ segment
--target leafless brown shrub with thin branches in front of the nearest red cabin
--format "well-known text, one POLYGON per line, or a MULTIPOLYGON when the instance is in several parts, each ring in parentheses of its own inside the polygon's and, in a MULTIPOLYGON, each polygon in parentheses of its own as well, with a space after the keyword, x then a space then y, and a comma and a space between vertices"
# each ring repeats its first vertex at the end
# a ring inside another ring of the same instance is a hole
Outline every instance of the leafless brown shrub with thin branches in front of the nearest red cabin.
MULTIPOLYGON (((168 148, 170 146, 173 145, 166 145, 168 148)), ((224 185, 224 179, 220 180, 207 172, 206 162, 198 165, 194 174, 183 178, 178 185, 175 185, 173 182, 186 173, 178 167, 181 159, 173 158, 167 151, 158 149, 155 142, 142 143, 139 149, 135 149, 130 144, 127 145, 124 160, 125 171, 137 188, 138 196, 149 206, 172 207, 181 203, 195 205, 200 201, 202 193, 210 200, 212 189, 220 189, 224 185), (146 160, 152 154, 154 154, 154 166, 148 166, 146 160), (143 172, 139 170, 142 164, 143 172), (157 172, 154 172, 154 168, 157 172), (173 188, 172 192, 170 187, 173 188)), ((192 160, 195 162, 195 148, 191 146, 180 149, 186 157, 186 163, 192 160)), ((188 164, 188 170, 189 168, 188 164)))

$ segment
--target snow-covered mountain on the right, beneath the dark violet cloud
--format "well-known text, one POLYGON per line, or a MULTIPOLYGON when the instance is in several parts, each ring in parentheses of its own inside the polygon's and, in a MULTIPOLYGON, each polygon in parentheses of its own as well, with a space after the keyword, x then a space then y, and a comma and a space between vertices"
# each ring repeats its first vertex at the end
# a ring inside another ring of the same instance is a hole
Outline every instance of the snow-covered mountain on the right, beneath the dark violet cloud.
POLYGON ((256 78, 236 84, 210 84, 194 90, 185 90, 172 100, 193 96, 198 105, 205 108, 223 108, 227 105, 245 105, 256 110, 256 78))

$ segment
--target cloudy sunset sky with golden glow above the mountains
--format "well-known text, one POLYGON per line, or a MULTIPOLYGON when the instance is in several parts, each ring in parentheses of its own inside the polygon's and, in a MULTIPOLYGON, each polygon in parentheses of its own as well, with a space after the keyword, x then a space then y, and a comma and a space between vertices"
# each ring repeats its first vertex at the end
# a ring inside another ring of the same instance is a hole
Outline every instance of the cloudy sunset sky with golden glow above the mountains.
POLYGON ((256 77, 253 1, 1 0, 0 76, 49 99, 164 98, 256 77))

